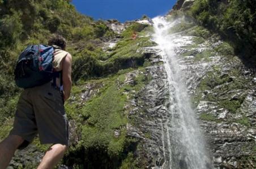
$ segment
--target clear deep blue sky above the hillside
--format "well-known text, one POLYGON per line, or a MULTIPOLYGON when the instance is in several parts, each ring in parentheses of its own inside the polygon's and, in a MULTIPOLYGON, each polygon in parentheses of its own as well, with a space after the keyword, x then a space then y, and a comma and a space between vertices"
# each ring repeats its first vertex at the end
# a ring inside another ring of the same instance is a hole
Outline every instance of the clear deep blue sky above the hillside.
POLYGON ((121 22, 147 15, 166 14, 177 0, 72 0, 76 10, 94 19, 117 19, 121 22))

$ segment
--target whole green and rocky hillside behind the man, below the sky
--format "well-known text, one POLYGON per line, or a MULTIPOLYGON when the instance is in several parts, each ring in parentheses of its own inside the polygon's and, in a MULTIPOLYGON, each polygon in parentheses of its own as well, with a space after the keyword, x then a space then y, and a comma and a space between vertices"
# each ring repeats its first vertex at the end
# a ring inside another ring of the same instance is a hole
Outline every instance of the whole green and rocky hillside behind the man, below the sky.
MULTIPOLYGON (((0 0, 0 140, 22 91, 13 75, 19 53, 61 34, 74 83, 65 103, 70 146, 56 168, 191 168, 173 127, 177 70, 191 102, 180 112, 191 105, 208 168, 255 168, 255 8, 250 0, 178 0, 161 18, 166 25, 146 16, 122 24, 81 15, 66 0, 0 0), (167 29, 167 46, 157 45, 156 29, 167 29)), ((36 138, 9 168, 35 168, 48 147, 36 138)))

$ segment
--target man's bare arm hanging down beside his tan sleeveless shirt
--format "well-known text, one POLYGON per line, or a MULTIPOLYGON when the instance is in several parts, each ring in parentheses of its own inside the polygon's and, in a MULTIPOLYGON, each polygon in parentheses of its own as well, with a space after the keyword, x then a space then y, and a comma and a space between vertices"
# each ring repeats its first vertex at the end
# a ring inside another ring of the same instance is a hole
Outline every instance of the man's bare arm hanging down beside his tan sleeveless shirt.
POLYGON ((72 87, 71 65, 72 65, 72 57, 70 54, 67 54, 67 56, 63 59, 63 62, 62 62, 64 100, 69 99, 70 91, 72 87))

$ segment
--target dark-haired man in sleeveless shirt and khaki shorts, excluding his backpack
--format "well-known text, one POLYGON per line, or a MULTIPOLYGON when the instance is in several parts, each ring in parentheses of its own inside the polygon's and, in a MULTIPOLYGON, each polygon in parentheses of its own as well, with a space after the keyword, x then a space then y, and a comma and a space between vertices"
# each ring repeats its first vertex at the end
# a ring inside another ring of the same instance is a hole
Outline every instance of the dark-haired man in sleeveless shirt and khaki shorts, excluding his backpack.
POLYGON ((63 104, 70 96, 72 57, 65 51, 63 37, 55 35, 48 45, 54 48, 52 65, 56 71, 62 70, 62 75, 40 86, 25 88, 20 95, 14 126, 0 143, 0 169, 7 168, 16 149, 28 146, 37 133, 41 144, 52 144, 38 168, 53 168, 67 150, 68 122, 63 104))

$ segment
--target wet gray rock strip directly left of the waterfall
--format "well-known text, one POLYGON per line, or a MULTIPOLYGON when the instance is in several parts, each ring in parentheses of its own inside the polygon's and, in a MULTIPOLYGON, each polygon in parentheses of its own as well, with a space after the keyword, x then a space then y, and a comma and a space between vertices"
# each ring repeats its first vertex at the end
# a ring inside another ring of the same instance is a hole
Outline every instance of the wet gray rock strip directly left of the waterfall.
POLYGON ((141 140, 142 148, 137 150, 139 158, 147 159, 147 168, 165 166, 165 143, 162 133, 166 130, 163 121, 168 118, 168 83, 164 66, 146 68, 146 77, 151 81, 131 100, 133 109, 130 117, 135 117, 134 126, 127 124, 127 135, 141 140))

